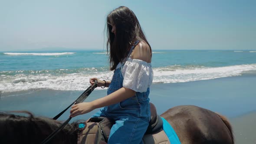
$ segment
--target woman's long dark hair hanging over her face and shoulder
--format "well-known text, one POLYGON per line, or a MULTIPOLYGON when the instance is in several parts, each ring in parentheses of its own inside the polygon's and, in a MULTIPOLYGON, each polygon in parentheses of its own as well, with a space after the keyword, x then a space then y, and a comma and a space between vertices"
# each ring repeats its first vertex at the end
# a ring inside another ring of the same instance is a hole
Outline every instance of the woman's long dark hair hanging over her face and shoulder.
POLYGON ((147 43, 151 50, 137 17, 128 7, 121 6, 110 12, 107 26, 110 70, 114 70, 119 62, 125 60, 137 40, 147 43), (112 26, 108 23, 115 25, 116 35, 111 32, 112 26))

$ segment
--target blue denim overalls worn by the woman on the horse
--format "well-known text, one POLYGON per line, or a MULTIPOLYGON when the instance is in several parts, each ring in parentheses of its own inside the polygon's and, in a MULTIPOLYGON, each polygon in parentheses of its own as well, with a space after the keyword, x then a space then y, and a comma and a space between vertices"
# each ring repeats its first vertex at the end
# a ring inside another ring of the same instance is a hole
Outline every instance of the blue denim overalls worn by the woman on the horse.
MULTIPOLYGON (((137 42, 138 43, 138 42, 137 42)), ((132 46, 130 56, 135 46, 132 46)), ((115 69, 108 87, 108 95, 123 87, 121 67, 115 69)), ((135 96, 114 105, 101 108, 92 117, 107 117, 115 124, 111 128, 108 144, 140 144, 150 121, 149 88, 147 92, 136 92, 135 96)))

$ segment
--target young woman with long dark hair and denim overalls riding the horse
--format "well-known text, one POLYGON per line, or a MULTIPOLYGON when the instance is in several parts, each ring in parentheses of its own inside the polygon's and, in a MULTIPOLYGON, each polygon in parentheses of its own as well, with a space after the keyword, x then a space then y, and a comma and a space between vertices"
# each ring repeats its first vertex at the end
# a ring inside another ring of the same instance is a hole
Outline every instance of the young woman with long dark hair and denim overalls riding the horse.
POLYGON ((98 86, 108 87, 107 96, 73 105, 70 117, 101 108, 92 117, 113 121, 108 144, 139 144, 150 121, 149 87, 153 81, 151 46, 135 14, 118 7, 108 14, 108 43, 111 81, 91 78, 98 86), (102 108, 103 107, 103 108, 102 108))

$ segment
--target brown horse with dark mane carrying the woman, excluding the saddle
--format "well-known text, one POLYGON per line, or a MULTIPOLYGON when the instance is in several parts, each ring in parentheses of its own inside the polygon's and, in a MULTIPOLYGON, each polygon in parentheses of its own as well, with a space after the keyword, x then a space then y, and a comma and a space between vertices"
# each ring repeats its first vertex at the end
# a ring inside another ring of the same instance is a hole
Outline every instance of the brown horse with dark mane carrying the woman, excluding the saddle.
MULTIPOLYGON (((0 144, 40 144, 62 123, 50 118, 0 113, 0 144)), ((176 131, 181 144, 234 144, 230 123, 213 111, 192 105, 182 105, 164 112, 176 131)), ((77 144, 78 122, 66 125, 51 144, 77 144)))

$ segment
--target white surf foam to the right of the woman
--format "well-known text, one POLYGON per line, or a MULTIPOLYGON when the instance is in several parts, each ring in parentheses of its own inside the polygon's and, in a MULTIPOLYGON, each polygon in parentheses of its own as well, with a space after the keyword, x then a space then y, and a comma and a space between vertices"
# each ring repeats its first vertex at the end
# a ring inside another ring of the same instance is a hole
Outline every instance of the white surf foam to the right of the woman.
POLYGON ((233 65, 217 68, 192 68, 168 70, 155 69, 154 80, 156 83, 190 82, 197 80, 216 79, 229 76, 242 75, 244 72, 256 70, 256 64, 233 65))

